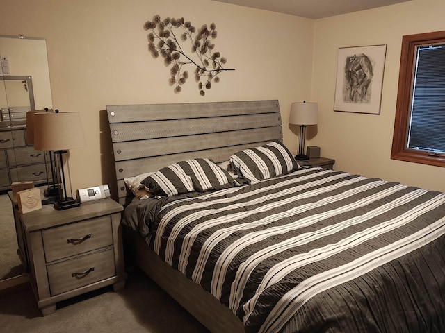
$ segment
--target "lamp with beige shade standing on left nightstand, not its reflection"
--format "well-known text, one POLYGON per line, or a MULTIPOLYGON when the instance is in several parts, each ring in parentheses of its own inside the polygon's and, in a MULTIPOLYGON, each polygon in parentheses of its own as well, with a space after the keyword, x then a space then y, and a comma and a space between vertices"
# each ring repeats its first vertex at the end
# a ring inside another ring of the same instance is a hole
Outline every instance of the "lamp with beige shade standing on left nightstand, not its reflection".
POLYGON ((85 146, 85 136, 79 112, 35 113, 34 121, 34 148, 42 151, 52 151, 54 154, 54 170, 56 182, 62 186, 59 189, 58 200, 54 207, 58 210, 77 207, 79 202, 72 197, 70 178, 70 164, 68 150, 85 146), (63 156, 66 155, 67 180, 70 193, 67 191, 65 181, 65 165, 63 156))

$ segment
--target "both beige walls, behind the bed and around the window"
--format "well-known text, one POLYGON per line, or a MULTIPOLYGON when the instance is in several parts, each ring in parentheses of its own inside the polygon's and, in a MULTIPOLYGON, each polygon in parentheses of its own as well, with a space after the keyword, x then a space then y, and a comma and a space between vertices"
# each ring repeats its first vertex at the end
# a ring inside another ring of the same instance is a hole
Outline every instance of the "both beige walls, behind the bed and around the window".
POLYGON ((443 0, 413 0, 326 19, 303 19, 211 0, 2 0, 0 35, 47 39, 54 108, 79 111, 88 144, 72 150, 73 187, 112 185, 110 104, 279 99, 284 143, 296 152, 298 128, 286 125, 293 101, 319 103, 307 144, 321 146, 335 169, 445 191, 444 169, 390 159, 401 38, 445 30, 443 0), (153 15, 215 22, 227 57, 221 81, 202 98, 193 80, 180 94, 168 67, 147 51, 143 24, 153 15), (333 112, 337 51, 387 44, 380 115, 333 112))

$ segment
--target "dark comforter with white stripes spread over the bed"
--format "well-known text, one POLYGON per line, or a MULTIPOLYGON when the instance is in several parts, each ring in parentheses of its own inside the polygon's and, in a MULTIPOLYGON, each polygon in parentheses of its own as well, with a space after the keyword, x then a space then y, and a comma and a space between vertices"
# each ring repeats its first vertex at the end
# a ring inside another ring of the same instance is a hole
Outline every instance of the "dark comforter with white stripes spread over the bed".
POLYGON ((312 168, 180 197, 145 227, 246 332, 445 332, 445 194, 312 168))

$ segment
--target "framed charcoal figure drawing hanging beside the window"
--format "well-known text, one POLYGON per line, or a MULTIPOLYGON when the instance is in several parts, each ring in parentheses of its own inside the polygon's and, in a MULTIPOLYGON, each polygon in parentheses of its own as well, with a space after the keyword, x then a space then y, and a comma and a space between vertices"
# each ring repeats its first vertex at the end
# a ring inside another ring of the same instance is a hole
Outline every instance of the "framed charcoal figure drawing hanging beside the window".
POLYGON ((387 45, 339 48, 334 111, 380 114, 387 45))

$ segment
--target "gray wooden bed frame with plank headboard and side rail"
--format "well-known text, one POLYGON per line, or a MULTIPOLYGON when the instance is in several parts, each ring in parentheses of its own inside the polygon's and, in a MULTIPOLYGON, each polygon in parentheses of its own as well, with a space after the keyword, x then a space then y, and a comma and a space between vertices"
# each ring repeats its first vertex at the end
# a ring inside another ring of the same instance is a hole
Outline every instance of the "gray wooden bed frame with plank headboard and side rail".
MULTIPOLYGON (((245 148, 282 140, 278 101, 235 101, 152 105, 108 105, 118 193, 132 198, 124 178, 157 171, 169 164, 208 157, 215 162, 245 148)), ((211 332, 244 332, 227 307, 179 271, 165 264, 136 236, 135 260, 156 284, 175 298, 211 332)))

